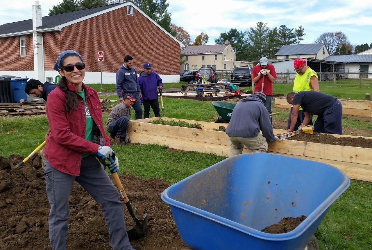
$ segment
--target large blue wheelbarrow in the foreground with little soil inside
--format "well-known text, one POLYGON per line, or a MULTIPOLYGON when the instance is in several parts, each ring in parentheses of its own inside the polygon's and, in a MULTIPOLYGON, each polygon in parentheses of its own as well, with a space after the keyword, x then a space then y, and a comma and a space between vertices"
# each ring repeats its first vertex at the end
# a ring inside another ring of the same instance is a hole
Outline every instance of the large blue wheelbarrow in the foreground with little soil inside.
POLYGON ((316 250, 315 230, 349 185, 345 173, 325 163, 249 153, 177 182, 161 198, 192 249, 316 250), (301 215, 307 218, 292 231, 261 232, 301 215))

